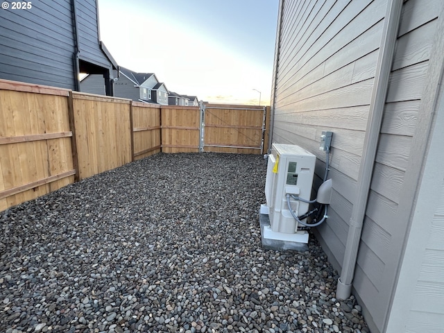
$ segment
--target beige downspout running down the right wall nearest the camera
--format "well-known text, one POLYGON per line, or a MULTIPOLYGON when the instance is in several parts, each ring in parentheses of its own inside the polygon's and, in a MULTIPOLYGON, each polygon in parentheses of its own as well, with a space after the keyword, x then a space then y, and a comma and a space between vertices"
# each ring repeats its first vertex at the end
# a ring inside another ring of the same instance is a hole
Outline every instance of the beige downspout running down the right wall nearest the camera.
POLYGON ((370 99, 370 110, 368 112, 366 136, 364 138, 364 151, 359 166, 357 198, 352 208, 341 277, 336 287, 336 298, 340 300, 349 298, 352 291, 352 281, 355 275, 362 225, 366 215, 368 193, 370 191, 377 143, 381 130, 382 116, 384 114, 388 80, 391 74, 393 54, 395 53, 396 38, 398 36, 402 2, 402 0, 388 0, 387 2, 384 27, 382 28, 382 40, 377 58, 375 83, 370 99))

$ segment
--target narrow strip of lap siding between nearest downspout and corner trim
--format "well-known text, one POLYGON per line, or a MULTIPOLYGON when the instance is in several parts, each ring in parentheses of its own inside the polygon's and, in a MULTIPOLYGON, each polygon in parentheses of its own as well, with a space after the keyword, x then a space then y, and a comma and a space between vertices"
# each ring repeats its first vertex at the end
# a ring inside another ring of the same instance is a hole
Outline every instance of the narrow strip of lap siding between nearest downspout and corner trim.
POLYGON ((390 302, 390 295, 386 291, 393 289, 395 284, 396 269, 393 265, 402 257, 402 235, 407 231, 407 221, 399 221, 396 215, 398 204, 402 204, 400 198, 404 175, 410 167, 411 158, 414 158, 411 156, 411 146, 429 69, 432 38, 436 33, 435 17, 438 10, 431 15, 431 8, 436 6, 436 2, 433 2, 430 7, 428 2, 422 0, 404 3, 398 32, 400 37, 395 46, 388 80, 381 134, 361 236, 361 244, 367 244, 387 266, 383 271, 377 271, 376 277, 376 262, 359 264, 361 278, 371 280, 381 292, 368 295, 366 286, 357 284, 359 275, 354 280, 359 298, 365 300, 373 321, 379 323, 377 325, 381 329, 390 302))

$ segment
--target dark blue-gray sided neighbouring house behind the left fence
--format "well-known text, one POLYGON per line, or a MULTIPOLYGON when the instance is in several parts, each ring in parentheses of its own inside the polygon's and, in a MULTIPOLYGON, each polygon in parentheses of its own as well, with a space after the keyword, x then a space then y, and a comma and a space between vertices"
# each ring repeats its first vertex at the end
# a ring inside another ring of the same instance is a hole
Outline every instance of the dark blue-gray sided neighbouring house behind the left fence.
POLYGON ((96 0, 34 1, 1 10, 0 78, 80 91, 80 73, 113 95, 117 64, 99 41, 96 0))

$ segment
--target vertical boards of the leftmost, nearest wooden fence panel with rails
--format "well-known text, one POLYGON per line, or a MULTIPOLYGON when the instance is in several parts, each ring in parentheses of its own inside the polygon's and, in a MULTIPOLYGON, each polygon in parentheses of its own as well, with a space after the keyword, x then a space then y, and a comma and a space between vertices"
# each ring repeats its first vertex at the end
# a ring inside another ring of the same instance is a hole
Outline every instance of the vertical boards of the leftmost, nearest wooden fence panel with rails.
MULTIPOLYGON (((19 89, 19 88, 17 88, 19 89)), ((0 90, 0 137, 69 133, 66 96, 0 90)), ((0 144, 0 192, 73 170, 70 137, 0 144)), ((74 176, 0 199, 0 210, 55 191, 74 176)))

